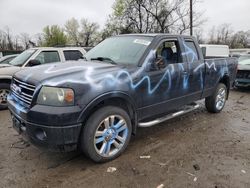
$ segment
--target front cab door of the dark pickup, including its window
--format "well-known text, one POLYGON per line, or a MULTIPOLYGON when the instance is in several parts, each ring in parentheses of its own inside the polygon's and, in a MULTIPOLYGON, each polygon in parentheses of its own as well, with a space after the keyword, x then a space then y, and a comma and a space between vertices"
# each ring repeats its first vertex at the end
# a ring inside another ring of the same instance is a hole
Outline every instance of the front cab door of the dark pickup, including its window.
POLYGON ((143 75, 149 81, 145 82, 142 89, 144 107, 140 112, 144 118, 167 113, 182 105, 181 97, 185 94, 183 79, 187 73, 187 64, 183 62, 179 39, 162 39, 155 47, 155 52, 153 64, 156 67, 143 75), (157 66, 157 63, 160 65, 157 66))

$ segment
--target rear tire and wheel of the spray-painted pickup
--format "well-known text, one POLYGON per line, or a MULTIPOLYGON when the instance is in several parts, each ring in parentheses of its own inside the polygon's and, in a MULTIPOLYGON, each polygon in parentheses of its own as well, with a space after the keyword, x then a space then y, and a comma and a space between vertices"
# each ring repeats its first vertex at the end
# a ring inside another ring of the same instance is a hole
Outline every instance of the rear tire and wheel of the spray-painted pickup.
POLYGON ((219 113, 223 110, 227 99, 227 87, 219 83, 214 94, 205 99, 205 105, 208 112, 219 113))

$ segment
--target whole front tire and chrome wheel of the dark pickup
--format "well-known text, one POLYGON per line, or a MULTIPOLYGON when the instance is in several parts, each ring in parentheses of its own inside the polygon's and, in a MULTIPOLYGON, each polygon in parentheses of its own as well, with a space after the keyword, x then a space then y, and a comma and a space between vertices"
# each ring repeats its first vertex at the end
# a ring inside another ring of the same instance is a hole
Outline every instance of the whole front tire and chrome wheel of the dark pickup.
POLYGON ((131 133, 131 120, 126 111, 115 106, 102 107, 87 120, 80 147, 95 162, 111 161, 126 149, 131 133))

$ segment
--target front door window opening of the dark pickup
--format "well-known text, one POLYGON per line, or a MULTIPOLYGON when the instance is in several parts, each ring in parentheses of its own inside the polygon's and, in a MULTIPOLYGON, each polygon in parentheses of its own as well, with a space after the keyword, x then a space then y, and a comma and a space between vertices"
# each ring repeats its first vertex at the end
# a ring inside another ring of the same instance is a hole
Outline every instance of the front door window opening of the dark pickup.
POLYGON ((162 42, 157 48, 157 57, 162 57, 166 64, 180 63, 180 48, 177 40, 162 42))

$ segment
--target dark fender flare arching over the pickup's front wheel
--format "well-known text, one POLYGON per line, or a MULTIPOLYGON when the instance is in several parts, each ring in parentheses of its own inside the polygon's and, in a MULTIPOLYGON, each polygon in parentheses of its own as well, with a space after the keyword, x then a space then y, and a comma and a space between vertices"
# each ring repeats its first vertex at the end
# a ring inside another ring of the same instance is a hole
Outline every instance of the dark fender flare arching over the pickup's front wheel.
POLYGON ((84 112, 84 118, 83 118, 83 124, 88 120, 91 114, 93 114, 98 109, 104 107, 104 106, 116 106, 120 107, 123 110, 125 110, 129 117, 131 118, 132 123, 132 133, 136 133, 136 127, 137 127, 137 115, 136 111, 132 104, 130 104, 127 100, 120 98, 120 97, 112 97, 109 99, 102 100, 101 102, 97 103, 92 107, 91 109, 88 109, 86 113, 84 112))

